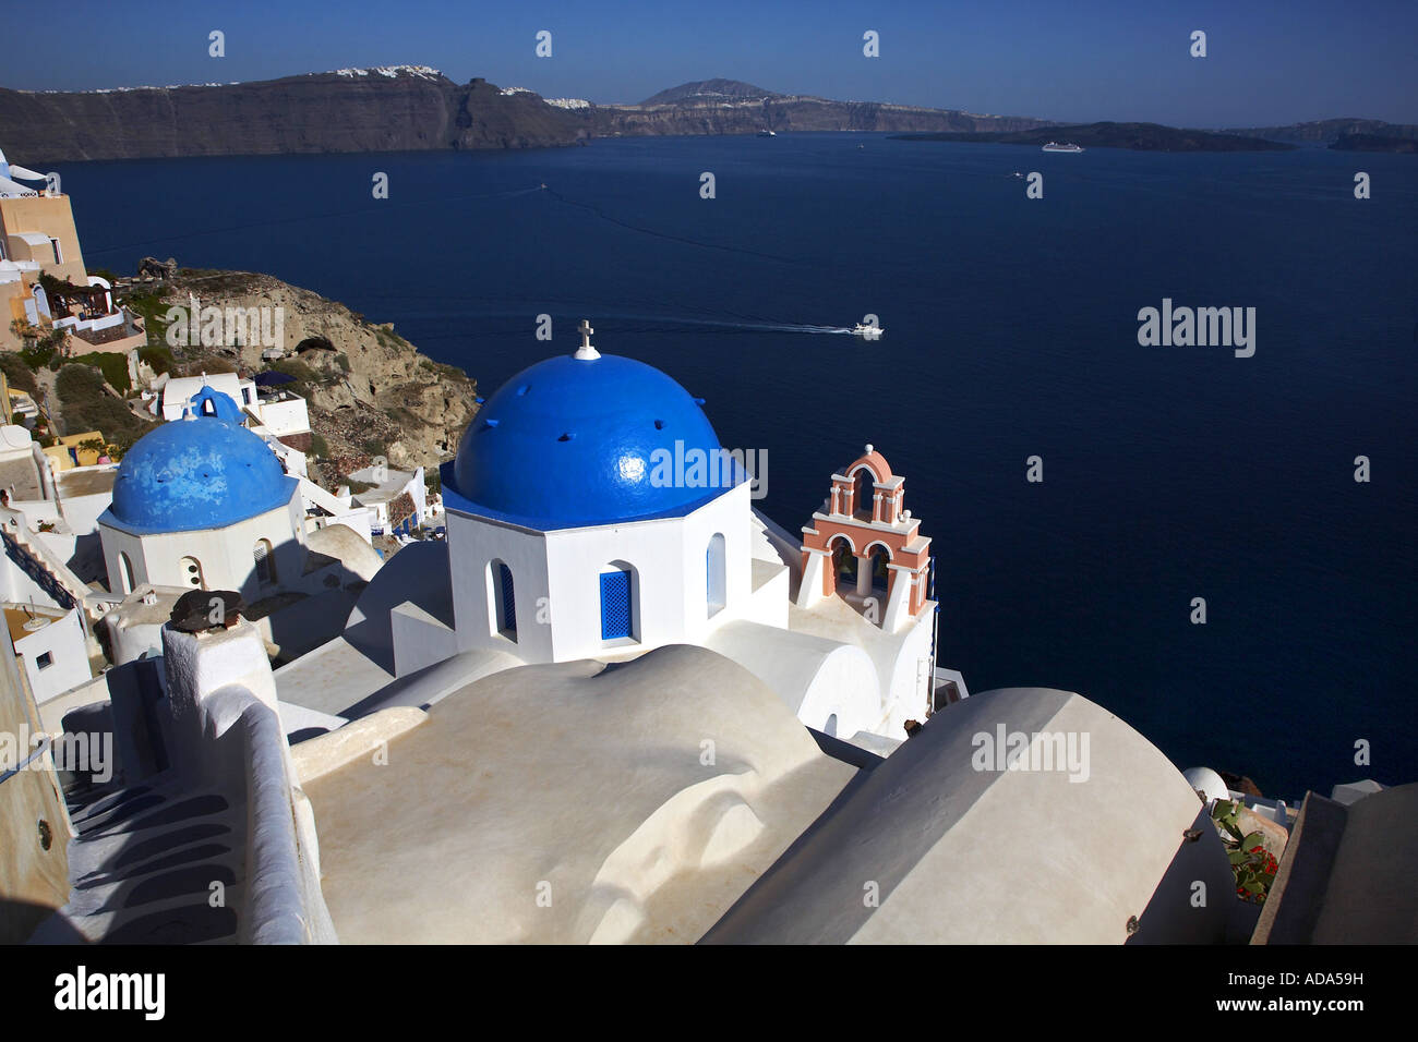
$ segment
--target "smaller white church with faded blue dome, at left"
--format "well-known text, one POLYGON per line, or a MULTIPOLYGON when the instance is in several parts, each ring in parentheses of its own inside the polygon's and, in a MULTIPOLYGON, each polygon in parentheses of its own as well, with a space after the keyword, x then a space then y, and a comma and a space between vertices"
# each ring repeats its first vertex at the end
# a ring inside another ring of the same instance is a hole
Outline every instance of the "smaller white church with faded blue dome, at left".
POLYGON ((204 387, 118 468, 98 519, 109 588, 240 590, 258 601, 301 574, 303 517, 299 482, 241 425, 235 403, 204 387))

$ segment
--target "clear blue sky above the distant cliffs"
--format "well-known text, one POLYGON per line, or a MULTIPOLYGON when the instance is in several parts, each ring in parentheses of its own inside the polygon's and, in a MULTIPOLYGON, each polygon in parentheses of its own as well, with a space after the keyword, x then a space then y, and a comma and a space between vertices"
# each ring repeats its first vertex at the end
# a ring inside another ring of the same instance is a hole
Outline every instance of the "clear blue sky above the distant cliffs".
POLYGON ((91 89, 423 64, 546 96, 641 101, 727 77, 781 92, 1062 121, 1418 122, 1415 0, 64 0, 4 20, 0 85, 91 89), (227 57, 207 55, 223 30, 227 57), (1193 30, 1207 58, 1188 55, 1193 30), (553 55, 533 54, 553 34, 553 55), (862 33, 881 57, 862 55, 862 33))

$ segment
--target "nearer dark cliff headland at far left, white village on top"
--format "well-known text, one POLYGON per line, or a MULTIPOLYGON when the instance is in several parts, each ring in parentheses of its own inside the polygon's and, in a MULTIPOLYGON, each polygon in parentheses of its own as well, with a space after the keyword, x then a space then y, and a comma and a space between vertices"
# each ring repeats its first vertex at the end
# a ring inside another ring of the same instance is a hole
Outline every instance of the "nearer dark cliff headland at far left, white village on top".
POLYGON ((0 147, 37 163, 536 147, 571 145, 577 130, 535 94, 459 86, 417 65, 211 86, 0 89, 0 147))

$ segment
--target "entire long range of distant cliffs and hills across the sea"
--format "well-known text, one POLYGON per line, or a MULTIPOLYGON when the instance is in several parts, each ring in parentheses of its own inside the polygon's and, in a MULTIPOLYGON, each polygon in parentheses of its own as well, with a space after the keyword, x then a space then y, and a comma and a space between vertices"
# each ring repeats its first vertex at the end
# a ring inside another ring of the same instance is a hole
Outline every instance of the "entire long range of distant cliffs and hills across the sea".
POLYGON ((0 147, 41 169, 84 159, 520 149, 593 136, 1005 132, 1046 125, 1022 116, 781 95, 732 79, 683 84, 640 105, 547 102, 484 79, 458 85, 423 65, 79 94, 0 88, 0 147))

